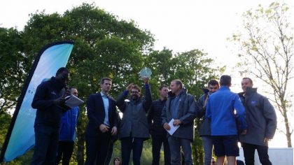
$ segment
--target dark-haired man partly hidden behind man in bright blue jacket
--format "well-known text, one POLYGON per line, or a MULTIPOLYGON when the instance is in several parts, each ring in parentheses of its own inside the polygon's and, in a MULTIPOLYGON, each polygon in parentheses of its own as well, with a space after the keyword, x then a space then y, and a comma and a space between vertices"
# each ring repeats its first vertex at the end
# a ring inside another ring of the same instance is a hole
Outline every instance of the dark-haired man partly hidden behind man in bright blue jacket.
POLYGON ((201 118, 202 121, 199 129, 199 136, 201 136, 202 138, 205 165, 211 165, 212 148, 214 146, 211 138, 211 121, 207 119, 207 117, 205 117, 205 111, 209 96, 216 92, 218 89, 218 81, 209 80, 207 92, 200 96, 200 99, 198 99, 197 101, 197 117, 201 118))

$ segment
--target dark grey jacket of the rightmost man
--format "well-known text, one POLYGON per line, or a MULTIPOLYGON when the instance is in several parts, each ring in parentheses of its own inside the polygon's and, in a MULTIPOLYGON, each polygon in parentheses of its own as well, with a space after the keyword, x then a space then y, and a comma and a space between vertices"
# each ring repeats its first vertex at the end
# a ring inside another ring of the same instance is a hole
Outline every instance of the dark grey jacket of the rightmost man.
POLYGON ((265 96, 256 88, 247 88, 246 94, 239 94, 246 110, 247 134, 240 135, 241 143, 265 145, 265 138, 272 139, 276 131, 276 112, 265 96))

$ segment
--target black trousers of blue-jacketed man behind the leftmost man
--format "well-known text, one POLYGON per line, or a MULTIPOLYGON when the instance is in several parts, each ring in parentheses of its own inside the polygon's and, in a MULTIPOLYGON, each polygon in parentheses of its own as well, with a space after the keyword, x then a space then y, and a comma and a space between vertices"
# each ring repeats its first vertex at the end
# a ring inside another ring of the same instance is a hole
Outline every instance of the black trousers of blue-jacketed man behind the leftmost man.
POLYGON ((69 165, 71 155, 73 154, 73 141, 59 141, 56 164, 59 164, 62 159, 62 165, 69 165))

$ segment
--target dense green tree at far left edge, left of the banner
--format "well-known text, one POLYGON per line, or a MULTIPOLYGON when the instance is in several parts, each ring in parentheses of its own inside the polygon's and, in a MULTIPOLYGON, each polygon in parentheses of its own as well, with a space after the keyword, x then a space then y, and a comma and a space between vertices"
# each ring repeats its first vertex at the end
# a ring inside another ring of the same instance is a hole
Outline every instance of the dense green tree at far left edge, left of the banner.
POLYGON ((17 29, 0 28, 0 114, 8 113, 20 95, 27 62, 22 49, 17 29))

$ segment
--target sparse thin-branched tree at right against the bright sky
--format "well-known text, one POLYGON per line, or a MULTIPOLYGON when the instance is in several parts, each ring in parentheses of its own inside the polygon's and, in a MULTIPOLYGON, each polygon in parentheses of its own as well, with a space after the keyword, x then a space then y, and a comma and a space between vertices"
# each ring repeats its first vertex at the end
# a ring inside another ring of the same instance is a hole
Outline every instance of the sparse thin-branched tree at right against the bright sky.
POLYGON ((283 117, 288 147, 292 147, 288 116, 293 114, 289 82, 293 78, 293 24, 285 3, 274 2, 268 8, 258 6, 243 15, 244 31, 232 36, 239 45, 241 73, 262 80, 271 90, 274 105, 283 117))

